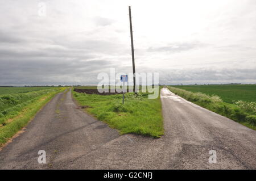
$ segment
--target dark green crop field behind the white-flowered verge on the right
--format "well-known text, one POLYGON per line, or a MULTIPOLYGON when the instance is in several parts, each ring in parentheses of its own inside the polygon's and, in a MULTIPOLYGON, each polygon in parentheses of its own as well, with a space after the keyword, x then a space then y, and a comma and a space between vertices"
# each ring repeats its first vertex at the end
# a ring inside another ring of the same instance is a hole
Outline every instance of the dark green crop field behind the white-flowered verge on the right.
POLYGON ((233 103, 233 100, 256 102, 256 85, 188 85, 172 87, 191 92, 203 92, 208 95, 218 95, 226 103, 233 103))

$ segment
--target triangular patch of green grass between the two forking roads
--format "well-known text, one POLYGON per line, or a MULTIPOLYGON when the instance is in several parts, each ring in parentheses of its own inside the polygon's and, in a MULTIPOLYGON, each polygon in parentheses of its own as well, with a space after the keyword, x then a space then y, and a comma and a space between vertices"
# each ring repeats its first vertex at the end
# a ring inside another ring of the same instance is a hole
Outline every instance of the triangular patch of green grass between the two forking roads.
POLYGON ((97 119, 116 128, 121 134, 135 133, 159 138, 163 135, 162 106, 160 97, 148 99, 147 93, 97 95, 73 91, 73 97, 86 111, 97 119))

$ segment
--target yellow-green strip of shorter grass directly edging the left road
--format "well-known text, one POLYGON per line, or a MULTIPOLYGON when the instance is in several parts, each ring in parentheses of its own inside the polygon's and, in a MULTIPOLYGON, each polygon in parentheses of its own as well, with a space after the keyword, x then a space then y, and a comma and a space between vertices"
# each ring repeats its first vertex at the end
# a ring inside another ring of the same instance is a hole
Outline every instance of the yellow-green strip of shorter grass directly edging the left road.
POLYGON ((64 91, 65 88, 49 91, 47 94, 40 95, 33 99, 32 102, 26 104, 22 110, 14 116, 9 116, 4 120, 5 124, 0 127, 0 147, 13 137, 15 133, 20 131, 27 123, 34 118, 36 113, 53 98, 57 93, 64 91))

